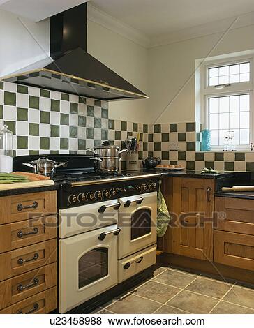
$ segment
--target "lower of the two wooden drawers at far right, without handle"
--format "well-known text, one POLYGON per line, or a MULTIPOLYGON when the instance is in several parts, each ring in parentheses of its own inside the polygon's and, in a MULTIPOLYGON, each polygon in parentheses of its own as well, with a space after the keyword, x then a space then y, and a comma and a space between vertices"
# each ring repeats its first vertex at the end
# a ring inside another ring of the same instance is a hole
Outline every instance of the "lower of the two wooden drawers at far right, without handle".
POLYGON ((254 270, 254 236, 215 231, 214 262, 254 270))

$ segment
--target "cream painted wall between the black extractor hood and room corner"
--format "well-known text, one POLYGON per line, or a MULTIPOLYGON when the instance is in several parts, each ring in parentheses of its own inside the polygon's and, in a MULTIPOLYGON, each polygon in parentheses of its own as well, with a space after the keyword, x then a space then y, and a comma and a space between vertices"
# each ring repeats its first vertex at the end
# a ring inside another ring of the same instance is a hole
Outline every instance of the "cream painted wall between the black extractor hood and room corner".
MULTIPOLYGON (((106 66, 147 93, 148 50, 133 41, 88 20, 87 51, 106 66)), ((110 103, 110 119, 149 123, 149 100, 110 103)))

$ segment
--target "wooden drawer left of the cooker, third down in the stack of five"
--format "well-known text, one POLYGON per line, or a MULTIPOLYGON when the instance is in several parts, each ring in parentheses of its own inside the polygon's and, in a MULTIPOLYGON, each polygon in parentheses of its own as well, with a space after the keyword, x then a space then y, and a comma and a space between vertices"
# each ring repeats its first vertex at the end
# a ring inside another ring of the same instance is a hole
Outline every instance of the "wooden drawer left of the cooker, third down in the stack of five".
POLYGON ((57 239, 2 253, 0 254, 0 281, 56 261, 57 239))

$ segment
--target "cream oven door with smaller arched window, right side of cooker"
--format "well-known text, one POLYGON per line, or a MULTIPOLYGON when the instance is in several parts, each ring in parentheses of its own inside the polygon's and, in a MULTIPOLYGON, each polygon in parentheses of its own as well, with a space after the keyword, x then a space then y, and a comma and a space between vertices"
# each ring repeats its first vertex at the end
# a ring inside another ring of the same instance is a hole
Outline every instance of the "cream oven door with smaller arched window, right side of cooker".
POLYGON ((124 197, 119 202, 118 258, 121 259, 156 243, 157 193, 124 197))

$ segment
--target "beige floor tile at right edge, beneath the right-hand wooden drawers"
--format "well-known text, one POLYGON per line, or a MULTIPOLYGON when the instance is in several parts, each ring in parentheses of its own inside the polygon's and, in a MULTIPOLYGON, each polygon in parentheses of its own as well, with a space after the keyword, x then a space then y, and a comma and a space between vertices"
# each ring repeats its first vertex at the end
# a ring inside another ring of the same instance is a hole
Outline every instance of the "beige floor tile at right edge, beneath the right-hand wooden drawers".
POLYGON ((230 292, 223 298, 223 301, 230 301, 234 304, 254 308, 254 290, 234 286, 232 290, 230 290, 230 292))

